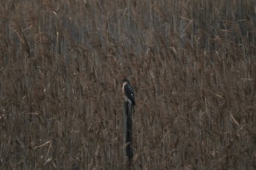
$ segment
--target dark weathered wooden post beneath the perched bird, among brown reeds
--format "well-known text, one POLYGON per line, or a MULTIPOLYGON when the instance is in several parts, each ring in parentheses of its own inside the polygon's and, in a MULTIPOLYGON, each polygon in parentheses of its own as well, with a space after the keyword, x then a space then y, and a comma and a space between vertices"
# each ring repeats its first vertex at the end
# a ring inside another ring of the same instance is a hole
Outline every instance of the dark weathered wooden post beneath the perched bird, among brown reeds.
POLYGON ((131 169, 133 150, 132 150, 132 114, 134 108, 128 102, 124 103, 124 161, 127 161, 131 169))

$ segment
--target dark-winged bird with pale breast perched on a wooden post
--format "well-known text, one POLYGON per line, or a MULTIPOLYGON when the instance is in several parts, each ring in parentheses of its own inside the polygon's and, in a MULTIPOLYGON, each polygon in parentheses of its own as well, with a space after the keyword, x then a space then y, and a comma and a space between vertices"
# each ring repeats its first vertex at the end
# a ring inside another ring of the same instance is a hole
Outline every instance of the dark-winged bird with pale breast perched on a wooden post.
POLYGON ((129 80, 124 79, 122 85, 122 93, 124 96, 124 101, 128 101, 129 104, 135 106, 135 90, 132 88, 129 80))

